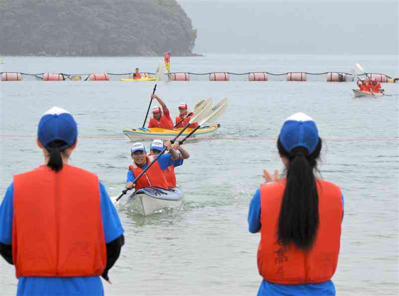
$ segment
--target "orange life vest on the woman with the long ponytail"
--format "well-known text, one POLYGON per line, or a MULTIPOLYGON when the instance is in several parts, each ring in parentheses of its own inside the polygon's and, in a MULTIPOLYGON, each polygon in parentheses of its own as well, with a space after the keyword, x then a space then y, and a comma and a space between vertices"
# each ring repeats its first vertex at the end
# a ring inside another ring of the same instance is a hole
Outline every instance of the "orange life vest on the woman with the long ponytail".
POLYGON ((341 189, 333 183, 317 180, 320 222, 314 245, 308 252, 293 244, 276 243, 284 189, 284 180, 260 187, 259 274, 268 282, 283 285, 326 282, 334 275, 338 263, 343 214, 341 189))

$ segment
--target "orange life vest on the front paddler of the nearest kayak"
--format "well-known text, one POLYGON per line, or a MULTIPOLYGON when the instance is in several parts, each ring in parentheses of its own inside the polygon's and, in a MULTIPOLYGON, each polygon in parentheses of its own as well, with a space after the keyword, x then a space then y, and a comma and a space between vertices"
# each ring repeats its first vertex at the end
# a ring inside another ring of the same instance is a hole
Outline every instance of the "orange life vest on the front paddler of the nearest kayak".
MULTIPOLYGON (((155 157, 156 157, 155 155, 147 155, 147 165, 150 165, 150 163, 155 159, 155 157)), ((135 178, 143 171, 143 169, 137 166, 135 162, 129 165, 129 169, 133 172, 135 178)), ((162 171, 158 161, 154 163, 144 173, 144 175, 140 177, 140 179, 137 180, 135 189, 138 190, 150 186, 168 189, 168 182, 165 179, 164 172, 162 171)))

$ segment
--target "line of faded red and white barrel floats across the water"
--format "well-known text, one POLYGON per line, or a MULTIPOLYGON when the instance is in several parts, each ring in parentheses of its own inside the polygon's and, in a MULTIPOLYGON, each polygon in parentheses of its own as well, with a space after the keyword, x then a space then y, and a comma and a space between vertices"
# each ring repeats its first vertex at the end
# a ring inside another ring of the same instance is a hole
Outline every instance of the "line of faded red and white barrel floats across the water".
MULTIPOLYGON (((86 74, 66 74, 66 73, 23 73, 23 72, 0 72, 1 81, 22 81, 23 76, 34 77, 41 81, 109 81, 113 76, 121 76, 118 78, 133 78, 133 73, 86 73, 86 74)), ((141 72, 142 78, 150 78, 155 73, 141 72)), ((246 72, 246 73, 232 73, 232 72, 208 72, 208 73, 192 73, 192 72, 171 72, 165 74, 166 80, 169 81, 190 81, 193 76, 208 76, 208 81, 327 81, 327 82, 350 82, 354 81, 355 77, 352 73, 347 72, 286 72, 286 73, 270 73, 270 72, 246 72), (245 79, 243 79, 243 76, 245 79), (310 77, 322 77, 312 78, 310 77), (233 79, 231 79, 233 78, 233 79)), ((358 74, 365 80, 376 79, 380 83, 398 82, 398 78, 392 78, 383 73, 363 73, 358 74)), ((118 79, 119 80, 119 79, 118 79)), ((143 79, 144 80, 144 79, 143 79)), ((203 80, 203 79, 194 79, 203 80)))

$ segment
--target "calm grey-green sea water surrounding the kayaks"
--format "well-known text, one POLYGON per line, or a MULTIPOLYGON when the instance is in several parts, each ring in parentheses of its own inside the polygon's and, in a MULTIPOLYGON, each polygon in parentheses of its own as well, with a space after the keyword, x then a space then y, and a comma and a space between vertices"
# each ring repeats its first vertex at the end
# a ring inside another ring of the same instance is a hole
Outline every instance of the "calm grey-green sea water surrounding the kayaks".
MULTIPOLYGON (((1 57, 1 71, 26 73, 154 72, 161 58, 1 57)), ((359 62, 366 71, 398 76, 396 56, 216 56, 174 58, 173 71, 346 71, 359 62)), ((42 163, 35 146, 44 111, 59 106, 79 124, 71 163, 99 175, 111 196, 123 189, 131 142, 123 128, 143 124, 153 83, 0 83, 0 194, 12 175, 42 163)), ((245 77, 235 80, 244 80, 245 77)), ((262 169, 282 168, 276 148, 289 115, 304 112, 324 139, 322 176, 345 197, 341 252, 333 281, 337 295, 397 295, 398 292, 398 85, 387 96, 353 97, 355 83, 245 82, 160 83, 158 95, 177 115, 184 101, 194 106, 227 96, 229 109, 211 139, 185 145, 191 158, 176 169, 185 191, 183 207, 141 217, 118 208, 126 245, 104 282, 107 295, 256 295, 259 235, 247 230, 246 215, 262 169)), ((233 79, 234 80, 234 79, 233 79)), ((312 80, 310 78, 310 80, 312 80)), ((320 79, 319 79, 320 80, 320 79)), ((149 145, 150 143, 146 143, 149 145)), ((2 198, 2 197, 1 197, 2 198)), ((14 269, 0 261, 0 294, 16 292, 14 269)))

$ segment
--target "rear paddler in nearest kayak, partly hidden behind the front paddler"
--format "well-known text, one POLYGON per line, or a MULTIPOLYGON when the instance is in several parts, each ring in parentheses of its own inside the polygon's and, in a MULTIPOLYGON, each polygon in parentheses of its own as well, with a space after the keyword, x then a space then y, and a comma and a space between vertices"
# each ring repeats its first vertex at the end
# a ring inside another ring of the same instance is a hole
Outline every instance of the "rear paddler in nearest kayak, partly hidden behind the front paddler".
MULTIPOLYGON (((173 160, 173 164, 169 165, 167 169, 164 170, 164 175, 169 187, 176 187, 176 174, 175 167, 183 164, 183 160, 190 157, 189 152, 179 145, 178 142, 174 143, 172 147, 178 151, 179 158, 173 160)), ((164 149, 164 142, 162 140, 154 140, 150 146, 150 155, 157 155, 164 149)))

